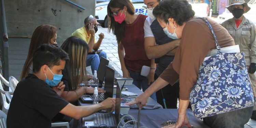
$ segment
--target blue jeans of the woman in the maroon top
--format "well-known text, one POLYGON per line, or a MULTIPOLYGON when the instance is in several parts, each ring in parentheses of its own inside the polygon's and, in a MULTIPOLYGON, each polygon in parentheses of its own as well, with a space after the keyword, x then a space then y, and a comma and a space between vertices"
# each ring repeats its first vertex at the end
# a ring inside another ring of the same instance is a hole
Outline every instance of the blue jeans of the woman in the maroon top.
MULTIPOLYGON (((147 77, 140 75, 140 72, 135 72, 132 71, 130 69, 127 69, 130 73, 130 76, 133 79, 132 84, 136 85, 139 89, 142 88, 142 91, 144 92, 149 86, 147 85, 148 81, 147 81, 147 77)), ((153 83, 153 82, 152 82, 153 83)), ((151 83, 151 84, 152 84, 151 83)), ((153 100, 156 101, 156 93, 153 93, 150 96, 153 100)))

